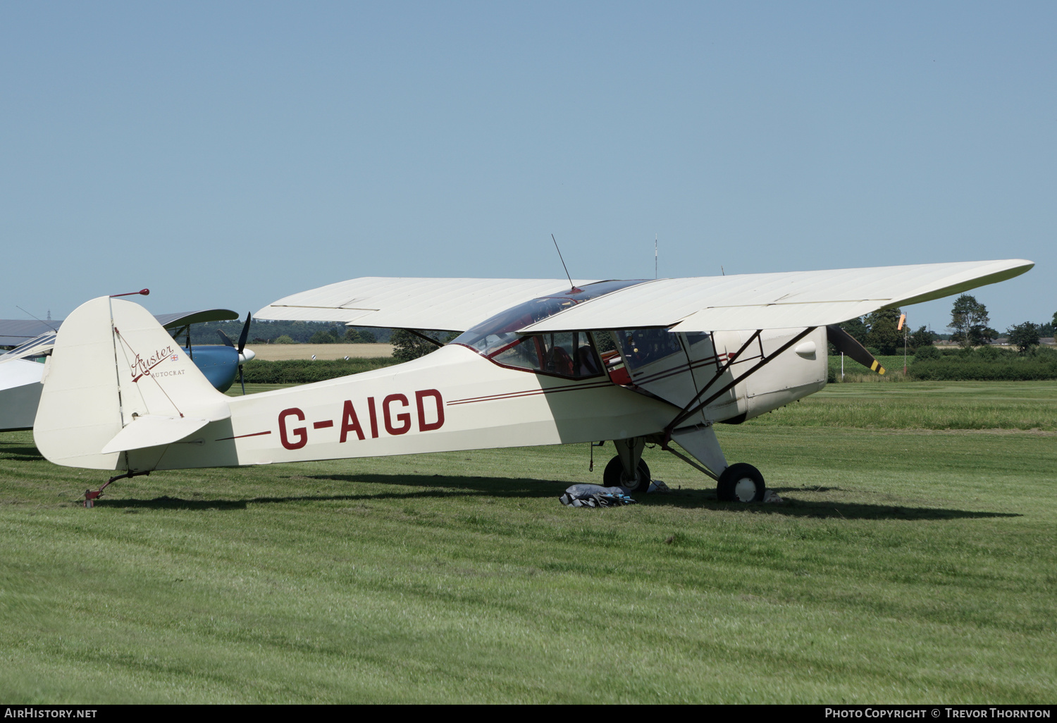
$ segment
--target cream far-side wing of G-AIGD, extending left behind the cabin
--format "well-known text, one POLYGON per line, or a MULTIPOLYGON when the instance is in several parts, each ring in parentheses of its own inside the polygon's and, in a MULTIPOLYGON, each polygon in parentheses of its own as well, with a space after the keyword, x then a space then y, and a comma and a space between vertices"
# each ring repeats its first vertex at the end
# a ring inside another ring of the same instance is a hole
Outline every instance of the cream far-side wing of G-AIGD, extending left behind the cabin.
MULTIPOLYGON (((576 280, 576 285, 592 283, 576 280)), ((567 279, 423 279, 365 276, 286 296, 257 319, 466 331, 501 311, 569 290, 567 279)))

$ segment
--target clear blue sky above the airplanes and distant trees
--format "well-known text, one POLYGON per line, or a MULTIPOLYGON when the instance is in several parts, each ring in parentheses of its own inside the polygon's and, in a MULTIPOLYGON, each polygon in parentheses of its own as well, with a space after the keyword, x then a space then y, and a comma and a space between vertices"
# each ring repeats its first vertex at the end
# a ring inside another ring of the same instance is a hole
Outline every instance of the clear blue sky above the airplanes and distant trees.
MULTIPOLYGON (((1036 261, 1057 3, 0 4, 0 317, 356 276, 1036 261)), ((911 308, 943 330, 950 301, 911 308)))

